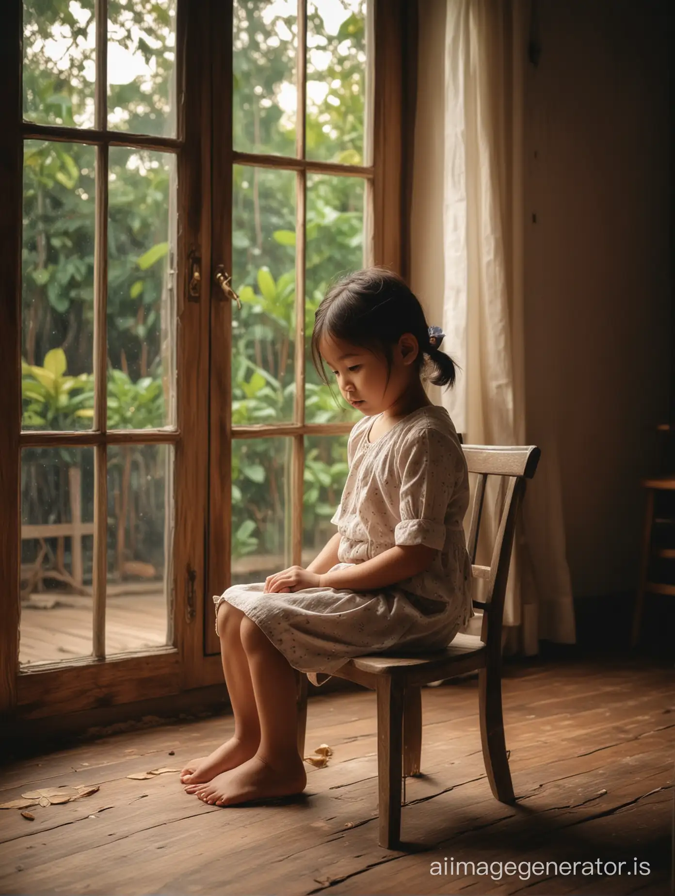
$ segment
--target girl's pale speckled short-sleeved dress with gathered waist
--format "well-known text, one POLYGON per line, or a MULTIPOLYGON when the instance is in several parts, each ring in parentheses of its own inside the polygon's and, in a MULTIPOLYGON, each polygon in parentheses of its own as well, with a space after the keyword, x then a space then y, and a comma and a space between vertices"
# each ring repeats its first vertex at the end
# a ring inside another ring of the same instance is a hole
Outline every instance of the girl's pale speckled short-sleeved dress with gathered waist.
POLYGON ((264 582, 255 582, 213 598, 216 612, 223 600, 238 607, 315 683, 317 670, 334 672, 366 653, 440 650, 473 616, 463 531, 469 480, 453 422, 445 408, 431 405, 371 443, 375 420, 359 420, 350 433, 350 470, 332 519, 341 535, 333 569, 394 545, 435 548, 428 568, 376 591, 265 594, 264 582))

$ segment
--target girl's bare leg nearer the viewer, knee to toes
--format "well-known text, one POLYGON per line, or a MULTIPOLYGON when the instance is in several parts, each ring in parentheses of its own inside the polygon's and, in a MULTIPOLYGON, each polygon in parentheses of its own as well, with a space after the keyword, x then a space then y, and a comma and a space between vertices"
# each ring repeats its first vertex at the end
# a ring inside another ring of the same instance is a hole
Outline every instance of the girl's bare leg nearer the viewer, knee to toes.
POLYGON ((300 793, 307 785, 305 766, 298 753, 295 672, 247 616, 241 620, 241 643, 258 707, 260 745, 247 762, 197 788, 200 799, 219 806, 286 797, 300 793))

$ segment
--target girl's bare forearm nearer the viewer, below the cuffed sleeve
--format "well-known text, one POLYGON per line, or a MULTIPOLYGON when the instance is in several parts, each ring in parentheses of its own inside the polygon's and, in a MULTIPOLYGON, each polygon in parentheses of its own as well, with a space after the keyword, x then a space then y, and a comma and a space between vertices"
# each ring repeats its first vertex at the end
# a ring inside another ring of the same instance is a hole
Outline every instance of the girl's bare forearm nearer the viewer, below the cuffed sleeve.
MULTIPOLYGON (((332 544, 328 542, 324 551, 332 544)), ((316 558, 315 563, 324 551, 316 558)), ((411 576, 424 572, 437 553, 436 548, 427 545, 397 545, 383 551, 365 563, 338 569, 333 573, 319 576, 320 588, 345 589, 350 591, 372 591, 410 579, 411 576)), ((310 568, 307 567, 309 570, 310 568)), ((330 566, 328 567, 330 569, 330 566)), ((310 570, 311 571, 311 570, 310 570)), ((316 570, 313 570, 316 572, 316 570)))

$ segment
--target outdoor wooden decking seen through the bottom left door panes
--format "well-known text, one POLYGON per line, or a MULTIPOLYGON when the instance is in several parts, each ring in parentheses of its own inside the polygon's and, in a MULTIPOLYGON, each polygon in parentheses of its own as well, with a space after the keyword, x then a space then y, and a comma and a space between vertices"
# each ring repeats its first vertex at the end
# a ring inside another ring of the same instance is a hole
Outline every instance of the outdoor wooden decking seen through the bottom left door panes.
MULTIPOLYGON (((108 585, 108 654, 160 647, 167 642, 167 599, 161 582, 108 585), (121 593, 120 593, 121 592, 121 593)), ((22 666, 91 656, 92 598, 45 591, 22 604, 22 666)))

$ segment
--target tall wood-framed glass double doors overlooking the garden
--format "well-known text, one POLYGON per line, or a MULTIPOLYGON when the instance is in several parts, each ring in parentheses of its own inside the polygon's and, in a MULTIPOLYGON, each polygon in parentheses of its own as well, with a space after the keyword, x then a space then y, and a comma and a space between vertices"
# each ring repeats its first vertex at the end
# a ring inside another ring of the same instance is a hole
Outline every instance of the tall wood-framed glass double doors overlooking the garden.
POLYGON ((221 682, 212 593, 332 534, 354 412, 308 338, 401 270, 404 7, 13 0, 0 710, 221 682))

